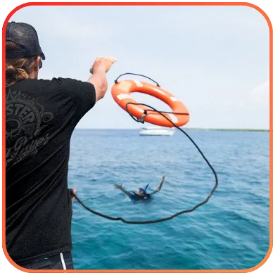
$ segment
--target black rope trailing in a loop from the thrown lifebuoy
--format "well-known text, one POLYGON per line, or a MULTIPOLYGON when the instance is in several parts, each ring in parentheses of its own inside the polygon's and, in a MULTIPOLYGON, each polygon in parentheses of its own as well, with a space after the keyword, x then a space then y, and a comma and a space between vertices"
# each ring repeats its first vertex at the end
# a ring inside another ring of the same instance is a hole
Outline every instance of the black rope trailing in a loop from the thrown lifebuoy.
MULTIPOLYGON (((122 74, 122 75, 139 75, 139 74, 134 74, 134 73, 125 73, 125 74, 122 74)), ((118 79, 122 76, 120 75, 116 80, 115 80, 115 83, 117 84, 118 83, 118 79)), ((139 76, 142 76, 142 77, 146 77, 144 75, 139 75, 139 76)), ((146 77, 148 78, 149 80, 151 80, 151 78, 149 77, 146 77)), ((154 80, 152 80, 153 82, 155 82, 154 80)), ((160 85, 155 82, 157 84, 158 87, 160 87, 160 85)), ((72 193, 71 191, 71 195, 75 197, 75 199, 84 207, 86 208, 87 210, 89 210, 89 212, 95 214, 95 215, 99 215, 103 218, 106 218, 108 220, 113 220, 113 221, 122 221, 126 224, 155 224, 155 223, 158 223, 158 222, 164 222, 164 221, 168 221, 168 220, 172 220, 174 217, 177 217, 179 215, 182 215, 184 213, 189 213, 189 212, 193 212, 193 210, 196 210, 196 208, 199 208, 201 207, 201 205, 204 205, 205 203, 208 203, 208 201, 210 200, 212 194, 215 192, 215 190, 217 189, 217 186, 218 186, 218 177, 217 177, 217 173, 215 172, 214 168, 212 167, 212 165, 210 164, 210 162, 208 161, 207 158, 205 158, 205 155, 203 154, 203 152, 201 151, 201 149, 197 146, 197 144, 193 141, 193 139, 191 139, 191 136, 189 136, 189 134, 187 134, 183 129, 181 129, 180 127, 178 127, 177 125, 174 124, 174 122, 172 122, 172 120, 170 120, 169 118, 167 118, 167 116, 165 116, 163 113, 172 113, 172 112, 163 112, 163 111, 159 111, 159 110, 156 110, 155 108, 151 107, 151 106, 148 106, 144 103, 127 103, 126 105, 126 110, 127 110, 127 113, 131 116, 131 118, 133 120, 135 120, 136 122, 141 122, 141 123, 144 123, 144 120, 145 120, 145 117, 146 115, 148 115, 148 111, 152 111, 152 112, 155 112, 155 113, 158 113, 160 115, 162 115, 166 120, 168 120, 172 125, 173 127, 177 128, 180 132, 184 133, 188 138, 189 140, 193 143, 194 146, 196 146, 198 152, 202 155, 203 159, 205 160, 205 162, 208 164, 208 166, 210 167, 210 169, 212 170, 214 176, 215 176, 215 186, 213 187, 212 191, 210 191, 210 194, 208 195, 207 198, 205 198, 205 200, 201 203, 198 203, 197 205, 195 205, 193 208, 189 209, 189 210, 182 210, 180 212, 177 212, 175 213, 174 215, 170 216, 170 217, 165 217, 165 218, 161 218, 161 219, 157 219, 157 220, 146 220, 146 221, 127 221, 125 219, 123 219, 122 217, 111 217, 111 216, 108 216, 108 215, 103 215, 102 213, 100 212, 96 212, 95 210, 92 210, 91 208, 87 207, 87 205, 85 205, 81 200, 80 198, 78 198, 74 193, 72 193), (147 108, 149 109, 146 109, 144 110, 144 114, 143 114, 143 117, 144 118, 141 118, 141 119, 137 119, 135 118, 130 112, 129 112, 129 109, 128 109, 128 106, 132 104, 132 105, 139 105, 139 106, 146 106, 147 108)), ((181 114, 181 115, 186 115, 185 113, 177 113, 177 114, 181 114)))

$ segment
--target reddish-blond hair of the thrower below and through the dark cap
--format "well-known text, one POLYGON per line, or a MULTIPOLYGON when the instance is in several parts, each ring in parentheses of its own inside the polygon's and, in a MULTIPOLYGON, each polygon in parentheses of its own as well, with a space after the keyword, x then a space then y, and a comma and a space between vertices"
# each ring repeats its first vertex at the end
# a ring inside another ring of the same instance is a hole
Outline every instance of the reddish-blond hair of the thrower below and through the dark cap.
MULTIPOLYGON (((6 51, 19 51, 20 46, 13 42, 6 42, 6 51)), ((25 80, 37 70, 37 57, 30 58, 6 58, 6 87, 25 80)))

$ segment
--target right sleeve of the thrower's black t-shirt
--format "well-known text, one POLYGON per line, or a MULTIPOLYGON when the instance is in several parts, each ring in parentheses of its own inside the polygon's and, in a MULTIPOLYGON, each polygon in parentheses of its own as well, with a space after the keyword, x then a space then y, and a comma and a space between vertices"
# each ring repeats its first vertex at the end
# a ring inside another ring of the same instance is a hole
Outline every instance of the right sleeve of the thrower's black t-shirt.
POLYGON ((90 82, 58 78, 61 89, 71 96, 74 103, 74 122, 77 124, 81 118, 96 104, 96 90, 90 82))

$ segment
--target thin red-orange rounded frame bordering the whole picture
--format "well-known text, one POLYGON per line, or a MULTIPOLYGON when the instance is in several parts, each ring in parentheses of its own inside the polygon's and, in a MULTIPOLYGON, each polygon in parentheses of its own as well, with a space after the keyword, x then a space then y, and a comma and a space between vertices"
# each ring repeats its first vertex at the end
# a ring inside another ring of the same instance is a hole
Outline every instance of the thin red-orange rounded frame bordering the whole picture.
POLYGON ((269 259, 271 253, 272 253, 272 145, 273 145, 273 136, 272 136, 272 51, 273 51, 273 41, 272 41, 272 33, 273 33, 273 27, 272 22, 265 13, 265 11, 262 10, 259 6, 256 6, 255 4, 248 3, 248 2, 173 2, 173 1, 158 1, 158 2, 140 2, 140 1, 134 1, 134 2, 126 2, 126 1, 115 1, 115 2, 75 2, 75 1, 65 1, 65 2, 51 2, 51 1, 44 1, 44 2, 28 2, 24 4, 20 4, 19 6, 16 6, 13 8, 11 13, 8 13, 6 20, 3 24, 2 29, 2 118, 1 118, 1 144, 2 144, 2 163, 1 163, 1 178, 2 178, 2 203, 1 203, 1 222, 2 222, 2 248, 4 250, 4 254, 6 255, 6 259, 8 262, 13 265, 16 269, 23 271, 23 272, 64 272, 64 270, 31 270, 31 269, 25 269, 23 267, 20 267, 13 262, 11 257, 8 255, 8 252, 6 250, 6 73, 5 71, 5 63, 6 63, 6 44, 4 41, 6 40, 5 34, 6 34, 6 25, 8 23, 8 20, 10 20, 11 16, 21 8, 24 8, 26 6, 248 6, 250 8, 255 8, 258 12, 260 12, 267 21, 267 24, 269 26, 269 88, 270 88, 270 95, 269 95, 269 101, 270 101, 270 110, 269 110, 269 119, 270 119, 270 125, 269 125, 269 162, 270 162, 270 169, 269 169, 269 249, 267 252, 267 255, 265 255, 265 258, 255 267, 249 268, 249 269, 240 269, 240 270, 219 270, 219 269, 213 269, 213 270, 66 270, 71 272, 253 272, 255 270, 260 269, 262 265, 265 264, 265 262, 269 259))

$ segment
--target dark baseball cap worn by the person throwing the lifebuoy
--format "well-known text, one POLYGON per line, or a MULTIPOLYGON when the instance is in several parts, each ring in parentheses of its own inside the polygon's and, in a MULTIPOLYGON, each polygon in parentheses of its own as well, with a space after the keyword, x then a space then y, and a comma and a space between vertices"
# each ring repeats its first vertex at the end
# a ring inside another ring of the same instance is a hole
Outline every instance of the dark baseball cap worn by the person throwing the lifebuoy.
POLYGON ((6 58, 27 58, 41 56, 44 53, 39 44, 38 34, 32 25, 27 23, 8 23, 6 27, 6 42, 13 42, 20 46, 20 51, 6 51, 6 58))

